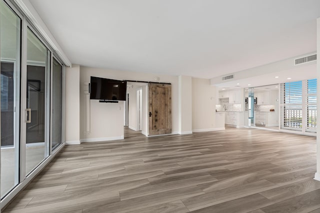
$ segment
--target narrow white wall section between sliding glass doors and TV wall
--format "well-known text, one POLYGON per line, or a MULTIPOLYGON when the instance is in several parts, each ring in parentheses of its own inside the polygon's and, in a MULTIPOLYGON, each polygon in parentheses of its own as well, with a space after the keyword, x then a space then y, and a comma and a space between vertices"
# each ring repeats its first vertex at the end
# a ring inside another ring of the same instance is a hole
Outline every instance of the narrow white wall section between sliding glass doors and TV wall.
POLYGON ((67 144, 80 143, 80 99, 79 78, 80 66, 66 67, 65 71, 65 142, 67 144))

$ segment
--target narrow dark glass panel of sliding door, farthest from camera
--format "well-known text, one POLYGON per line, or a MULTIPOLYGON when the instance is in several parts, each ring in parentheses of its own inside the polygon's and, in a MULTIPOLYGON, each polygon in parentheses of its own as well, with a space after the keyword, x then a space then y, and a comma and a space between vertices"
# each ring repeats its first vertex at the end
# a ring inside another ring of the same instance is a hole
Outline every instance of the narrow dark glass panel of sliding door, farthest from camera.
POLYGON ((52 114, 51 114, 51 148, 52 151, 61 144, 62 124, 62 66, 53 58, 52 61, 52 114))

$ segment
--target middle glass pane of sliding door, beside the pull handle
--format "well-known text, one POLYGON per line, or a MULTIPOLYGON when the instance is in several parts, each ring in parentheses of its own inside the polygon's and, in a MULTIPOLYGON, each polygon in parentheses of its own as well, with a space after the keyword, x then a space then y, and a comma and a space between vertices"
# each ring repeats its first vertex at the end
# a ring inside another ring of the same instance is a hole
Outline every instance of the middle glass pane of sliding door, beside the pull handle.
POLYGON ((50 64, 43 43, 27 29, 25 174, 29 174, 48 155, 46 102, 47 73, 50 64))

